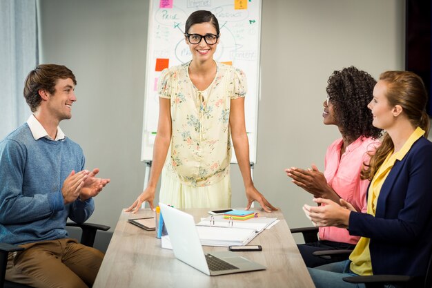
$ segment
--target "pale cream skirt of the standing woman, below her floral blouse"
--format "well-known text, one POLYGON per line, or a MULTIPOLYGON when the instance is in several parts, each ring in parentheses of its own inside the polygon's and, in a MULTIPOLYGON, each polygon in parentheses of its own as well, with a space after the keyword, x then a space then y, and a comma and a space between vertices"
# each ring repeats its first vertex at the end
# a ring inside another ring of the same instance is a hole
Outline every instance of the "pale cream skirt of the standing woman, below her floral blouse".
POLYGON ((230 173, 210 186, 188 186, 181 184, 175 175, 162 169, 159 201, 175 208, 223 209, 231 207, 230 173))

